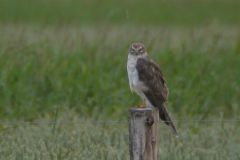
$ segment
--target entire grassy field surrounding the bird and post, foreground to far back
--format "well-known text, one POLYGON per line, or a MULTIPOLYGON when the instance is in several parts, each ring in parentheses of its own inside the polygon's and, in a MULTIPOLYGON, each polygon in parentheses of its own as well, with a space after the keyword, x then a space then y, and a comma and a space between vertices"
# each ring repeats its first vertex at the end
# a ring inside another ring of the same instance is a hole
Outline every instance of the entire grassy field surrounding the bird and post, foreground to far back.
MULTIPOLYGON (((1 122, 126 121, 134 42, 162 68, 173 120, 238 119, 240 2, 58 2, 0 1, 1 122)), ((127 127, 0 124, 0 159, 129 159, 127 127)), ((176 128, 160 123, 160 159, 240 157, 239 123, 176 128)))

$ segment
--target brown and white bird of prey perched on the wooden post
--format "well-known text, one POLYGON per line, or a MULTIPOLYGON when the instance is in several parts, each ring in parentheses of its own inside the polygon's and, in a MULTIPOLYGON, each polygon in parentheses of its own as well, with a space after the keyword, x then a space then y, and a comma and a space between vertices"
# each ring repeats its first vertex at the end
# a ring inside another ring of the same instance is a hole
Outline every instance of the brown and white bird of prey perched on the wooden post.
POLYGON ((165 121, 172 133, 177 131, 164 105, 168 98, 168 89, 158 65, 148 56, 141 43, 134 43, 129 48, 127 72, 130 89, 136 92, 143 104, 139 107, 157 107, 159 117, 165 121))

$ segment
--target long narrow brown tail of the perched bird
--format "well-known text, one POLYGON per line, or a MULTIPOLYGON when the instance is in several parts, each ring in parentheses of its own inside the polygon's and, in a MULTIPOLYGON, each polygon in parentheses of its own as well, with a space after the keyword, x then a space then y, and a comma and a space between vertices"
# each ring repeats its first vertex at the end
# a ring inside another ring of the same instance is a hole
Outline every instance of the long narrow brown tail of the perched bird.
POLYGON ((172 134, 174 134, 176 137, 178 137, 177 131, 172 123, 172 120, 168 114, 166 106, 163 104, 161 108, 159 108, 159 117, 165 121, 164 123, 168 125, 172 131, 172 134), (167 122, 166 122, 167 121, 167 122))

